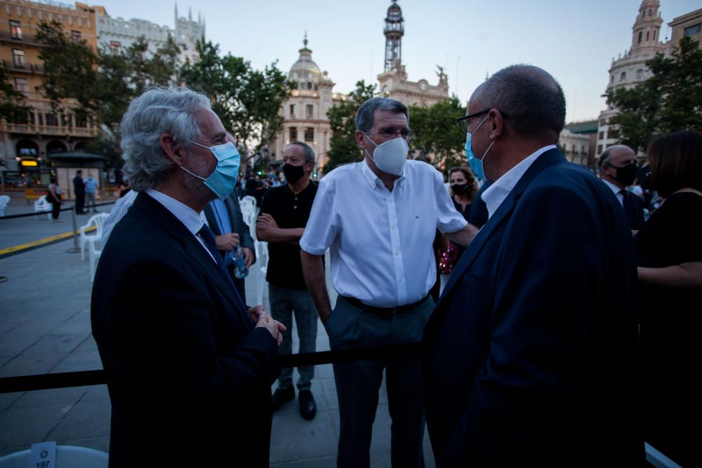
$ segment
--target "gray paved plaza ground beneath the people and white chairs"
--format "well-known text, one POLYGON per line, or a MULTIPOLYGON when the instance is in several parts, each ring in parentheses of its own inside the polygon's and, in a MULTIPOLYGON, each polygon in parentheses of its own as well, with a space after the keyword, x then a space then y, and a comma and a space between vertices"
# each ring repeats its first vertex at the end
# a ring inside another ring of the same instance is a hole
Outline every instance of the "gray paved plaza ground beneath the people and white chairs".
MULTIPOLYGON (((7 215, 32 211, 32 204, 10 195, 13 201, 7 215)), ((110 206, 99 209, 107 211, 110 206)), ((61 213, 60 220, 53 223, 46 216, 0 220, 0 250, 70 232, 70 213, 61 213)), ((88 215, 79 215, 78 226, 87 220, 88 215)), ((88 260, 81 262, 79 253, 67 253, 72 246, 69 239, 0 258, 0 276, 8 277, 0 283, 0 377, 102 367, 91 335, 88 260)), ((254 265, 246 279, 249 302, 256 297, 258 281, 265 279, 254 265)), ((336 300, 329 278, 327 286, 336 300)), ((264 290, 267 307, 267 288, 264 290)), ((321 323, 317 330, 317 350, 328 350, 329 339, 321 323)), ((296 339, 293 346, 297 349, 296 339)), ((331 364, 317 366, 312 392, 318 407, 314 420, 300 417, 297 401, 274 414, 272 467, 336 466, 339 413, 331 364)), ((110 399, 105 385, 0 394, 0 456, 40 441, 109 452, 109 434, 110 399)), ((427 466, 433 467, 426 436, 424 449, 427 466)), ((390 417, 384 385, 373 426, 371 466, 390 467, 390 417)))

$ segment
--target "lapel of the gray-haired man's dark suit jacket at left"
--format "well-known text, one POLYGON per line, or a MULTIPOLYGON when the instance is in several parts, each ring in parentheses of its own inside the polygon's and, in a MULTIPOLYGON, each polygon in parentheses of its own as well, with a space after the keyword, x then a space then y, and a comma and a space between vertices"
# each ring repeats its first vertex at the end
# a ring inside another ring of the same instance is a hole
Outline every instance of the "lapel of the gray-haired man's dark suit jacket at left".
POLYGON ((247 312, 247 307, 241 300, 241 297, 239 297, 239 293, 232 287, 232 283, 227 280, 225 271, 212 260, 192 232, 188 231, 185 225, 183 225, 183 222, 178 220, 173 213, 147 194, 138 194, 134 201, 134 207, 152 217, 152 219, 157 221, 159 225, 164 228, 166 233, 176 237, 176 239, 180 241, 186 255, 204 269, 220 292, 227 297, 227 300, 236 306, 237 312, 239 312, 244 323, 251 328, 251 319, 247 312))

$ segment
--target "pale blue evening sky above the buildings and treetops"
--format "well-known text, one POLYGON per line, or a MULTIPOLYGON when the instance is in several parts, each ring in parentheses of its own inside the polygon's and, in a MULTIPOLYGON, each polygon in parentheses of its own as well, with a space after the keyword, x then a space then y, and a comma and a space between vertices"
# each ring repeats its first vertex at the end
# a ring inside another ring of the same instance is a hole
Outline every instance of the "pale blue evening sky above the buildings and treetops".
MULTIPOLYGON (((171 0, 99 0, 111 16, 173 27, 171 0)), ((486 74, 514 63, 543 67, 562 84, 568 121, 595 119, 604 109, 613 57, 630 47, 640 0, 399 0, 404 16, 402 62, 411 81, 449 75, 449 93, 465 102, 486 74)), ((376 83, 383 71, 383 20, 390 0, 200 0, 178 2, 206 19, 206 39, 263 68, 288 71, 307 31, 312 58, 347 93, 376 83)), ((661 0, 661 38, 668 22, 701 7, 699 0, 661 0)))

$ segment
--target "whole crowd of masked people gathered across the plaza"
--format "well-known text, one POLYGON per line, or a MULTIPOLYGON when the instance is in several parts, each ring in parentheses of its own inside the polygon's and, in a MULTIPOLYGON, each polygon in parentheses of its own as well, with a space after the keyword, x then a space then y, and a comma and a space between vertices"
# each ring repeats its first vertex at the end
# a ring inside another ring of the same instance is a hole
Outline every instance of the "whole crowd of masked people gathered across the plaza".
POLYGON ((267 466, 272 414, 296 388, 300 415, 317 413, 314 367, 297 382, 280 368, 293 316, 303 353, 318 317, 332 350, 423 343, 416 357, 333 363, 339 467, 370 464, 383 376, 395 467, 424 466, 425 427, 441 467, 640 466, 644 441, 701 461, 689 427, 702 133, 654 139, 643 168, 610 147, 595 175, 559 151, 562 88, 527 65, 492 75, 456 117, 470 169, 447 180, 408 159, 407 107, 371 98, 355 121, 361 161, 313 182, 312 148, 290 142, 284 179, 242 181, 203 95, 151 88, 131 102, 131 192, 105 223, 91 303, 111 467, 267 466), (268 243, 270 313, 246 305, 232 266, 239 250, 256 262, 251 229, 268 243), (178 450, 154 450, 166 446, 178 450))

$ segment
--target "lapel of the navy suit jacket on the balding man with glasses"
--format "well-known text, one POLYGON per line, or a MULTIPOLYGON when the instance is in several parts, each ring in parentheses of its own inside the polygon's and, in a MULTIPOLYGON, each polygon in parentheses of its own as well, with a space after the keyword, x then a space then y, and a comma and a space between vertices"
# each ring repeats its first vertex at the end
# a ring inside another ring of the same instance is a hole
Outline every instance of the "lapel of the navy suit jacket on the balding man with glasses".
POLYGON ((522 196, 522 193, 524 193, 524 190, 527 189, 531 180, 534 180, 536 175, 541 173, 545 168, 562 161, 565 161, 565 159, 561 152, 558 149, 550 149, 541 154, 541 156, 538 156, 536 161, 529 166, 527 172, 517 181, 517 185, 512 189, 512 192, 510 192, 497 211, 490 217, 482 229, 480 229, 480 232, 478 232, 475 239, 473 239, 470 246, 468 246, 461 256, 461 260, 458 260, 458 264, 453 269, 453 273, 451 273, 449 282, 446 283, 444 293, 439 297, 437 310, 441 307, 445 298, 451 294, 451 290, 456 286, 458 280, 461 279, 465 270, 475 261, 475 258, 477 258, 478 254, 482 251, 492 234, 494 234, 496 229, 512 215, 512 210, 514 210, 517 201, 522 196))

